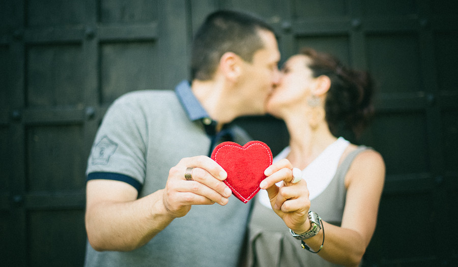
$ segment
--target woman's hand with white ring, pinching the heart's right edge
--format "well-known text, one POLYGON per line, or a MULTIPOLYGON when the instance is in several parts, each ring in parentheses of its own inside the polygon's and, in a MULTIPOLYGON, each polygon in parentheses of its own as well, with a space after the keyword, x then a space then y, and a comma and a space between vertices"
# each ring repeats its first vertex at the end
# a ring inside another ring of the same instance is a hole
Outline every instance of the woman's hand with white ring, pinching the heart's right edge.
POLYGON ((308 210, 310 199, 307 183, 301 180, 292 183, 293 165, 287 159, 282 159, 270 165, 264 174, 267 176, 260 187, 266 189, 270 204, 274 212, 284 223, 296 233, 303 233, 310 229, 308 210), (279 183, 279 186, 276 183, 279 183))

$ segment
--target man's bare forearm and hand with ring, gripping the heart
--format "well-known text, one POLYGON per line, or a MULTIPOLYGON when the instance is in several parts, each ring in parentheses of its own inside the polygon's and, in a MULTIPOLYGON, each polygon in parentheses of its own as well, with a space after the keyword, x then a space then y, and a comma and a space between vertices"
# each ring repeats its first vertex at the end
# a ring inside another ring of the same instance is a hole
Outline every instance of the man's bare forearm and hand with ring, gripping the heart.
POLYGON ((86 230, 98 251, 129 251, 145 245, 175 218, 185 216, 191 205, 225 205, 232 191, 222 182, 227 173, 212 159, 182 159, 170 169, 164 189, 137 199, 131 185, 113 180, 87 184, 86 230), (194 181, 186 181, 187 167, 195 167, 194 181))

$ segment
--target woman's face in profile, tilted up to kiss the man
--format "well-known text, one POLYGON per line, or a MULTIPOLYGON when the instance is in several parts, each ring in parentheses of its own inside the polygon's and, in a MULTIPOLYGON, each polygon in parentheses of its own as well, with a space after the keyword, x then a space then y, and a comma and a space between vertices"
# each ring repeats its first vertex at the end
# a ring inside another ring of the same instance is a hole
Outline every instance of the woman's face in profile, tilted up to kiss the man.
POLYGON ((281 117, 284 111, 304 106, 313 84, 310 59, 305 55, 293 55, 281 69, 278 86, 267 102, 267 112, 281 117))

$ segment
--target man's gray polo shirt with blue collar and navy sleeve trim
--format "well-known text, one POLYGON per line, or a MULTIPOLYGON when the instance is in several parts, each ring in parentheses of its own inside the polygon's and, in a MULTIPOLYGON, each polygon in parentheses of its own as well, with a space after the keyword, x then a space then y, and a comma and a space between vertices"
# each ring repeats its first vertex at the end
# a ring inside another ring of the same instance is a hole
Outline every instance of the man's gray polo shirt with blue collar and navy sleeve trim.
MULTIPOLYGON (((188 82, 173 91, 139 91, 116 100, 103 119, 88 160, 91 179, 134 186, 139 196, 165 187, 180 159, 208 155, 212 135, 207 112, 188 82), (201 112, 201 113, 199 113, 201 112), (208 129, 207 129, 208 131, 208 129)), ((232 131, 245 144, 248 135, 232 131)), ((86 266, 236 266, 249 204, 230 197, 225 206, 194 205, 149 243, 130 252, 97 252, 87 246, 86 266)))

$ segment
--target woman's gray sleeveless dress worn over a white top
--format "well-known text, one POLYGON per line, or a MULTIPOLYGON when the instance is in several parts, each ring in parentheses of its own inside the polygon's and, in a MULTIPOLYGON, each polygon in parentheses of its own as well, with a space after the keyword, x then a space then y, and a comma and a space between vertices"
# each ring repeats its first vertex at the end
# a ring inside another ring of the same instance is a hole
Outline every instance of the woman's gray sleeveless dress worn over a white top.
MULTIPOLYGON (((351 152, 338 166, 328 187, 311 200, 310 210, 320 215, 324 221, 340 226, 347 193, 345 176, 355 157, 367 149, 359 146, 351 152)), ((253 201, 248 225, 247 266, 338 266, 302 249, 300 241, 291 236, 280 217, 257 199, 253 201)))

